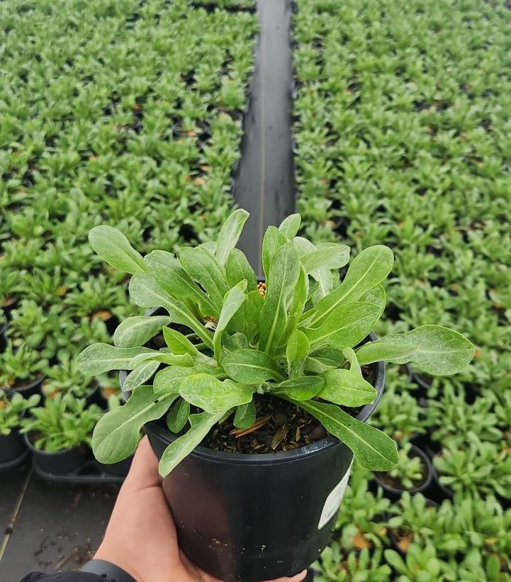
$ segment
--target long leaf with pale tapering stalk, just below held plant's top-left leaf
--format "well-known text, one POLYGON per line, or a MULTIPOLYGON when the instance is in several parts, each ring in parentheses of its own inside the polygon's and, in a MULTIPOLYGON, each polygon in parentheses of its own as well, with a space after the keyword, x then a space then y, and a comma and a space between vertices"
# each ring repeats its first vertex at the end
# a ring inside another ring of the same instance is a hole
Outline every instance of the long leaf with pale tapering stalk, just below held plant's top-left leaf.
POLYGON ((133 275, 130 280, 130 296, 135 305, 145 308, 163 307, 169 312, 173 323, 181 323, 196 332, 198 337, 213 348, 213 335, 204 328, 188 307, 169 296, 150 273, 133 275))

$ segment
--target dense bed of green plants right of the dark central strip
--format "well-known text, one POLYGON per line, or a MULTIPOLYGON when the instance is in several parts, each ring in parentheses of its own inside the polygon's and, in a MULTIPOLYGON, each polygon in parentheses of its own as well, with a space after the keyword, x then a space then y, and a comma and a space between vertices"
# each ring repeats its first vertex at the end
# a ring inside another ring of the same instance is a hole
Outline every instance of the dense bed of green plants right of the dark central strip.
MULTIPOLYGON (((479 508, 499 515, 502 527, 511 519, 511 6, 297 0, 295 7, 294 130, 307 234, 358 250, 393 248, 387 323, 377 332, 438 323, 477 348, 471 366, 434 380, 421 405, 406 371, 391 370, 373 422, 401 440, 431 435, 437 469, 456 491, 453 515, 479 508), (495 508, 484 509, 484 498, 495 508)), ((367 477, 352 488, 364 488, 367 477)), ((359 526, 350 534, 339 523, 321 580, 390 580, 386 563, 402 581, 510 579, 509 541, 497 525, 493 537, 482 534, 485 520, 467 520, 467 558, 458 565, 456 544, 439 543, 443 527, 454 537, 458 527, 440 525, 446 503, 431 510, 436 524, 427 535, 412 525, 417 547, 405 567, 377 549, 388 547, 381 510, 353 519, 357 495, 341 514, 359 526)), ((364 507, 376 505, 366 492, 364 507)))

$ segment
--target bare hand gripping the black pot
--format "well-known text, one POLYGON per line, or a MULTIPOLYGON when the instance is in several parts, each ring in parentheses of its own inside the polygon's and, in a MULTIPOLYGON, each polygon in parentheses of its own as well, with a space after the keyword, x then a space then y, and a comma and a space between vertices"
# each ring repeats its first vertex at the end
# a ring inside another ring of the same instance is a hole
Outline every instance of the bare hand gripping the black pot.
MULTIPOLYGON (((220 582, 181 552, 176 526, 161 488, 158 461, 147 437, 135 459, 95 559, 128 572, 137 582, 220 582)), ((305 571, 274 582, 300 582, 305 571)))

